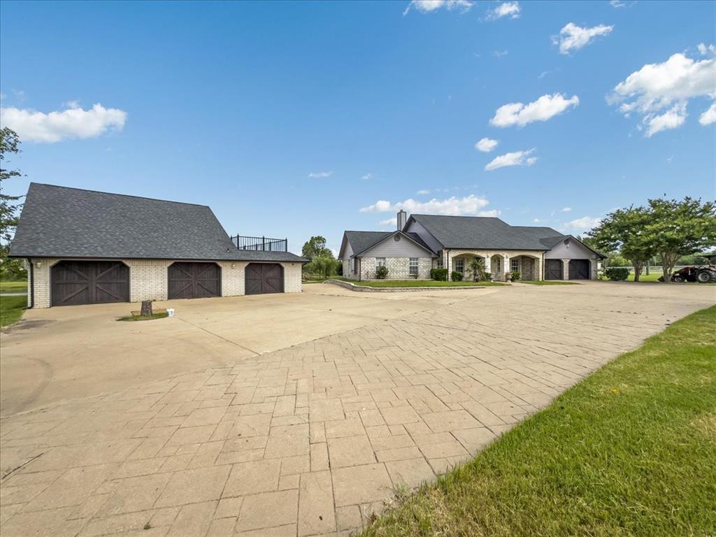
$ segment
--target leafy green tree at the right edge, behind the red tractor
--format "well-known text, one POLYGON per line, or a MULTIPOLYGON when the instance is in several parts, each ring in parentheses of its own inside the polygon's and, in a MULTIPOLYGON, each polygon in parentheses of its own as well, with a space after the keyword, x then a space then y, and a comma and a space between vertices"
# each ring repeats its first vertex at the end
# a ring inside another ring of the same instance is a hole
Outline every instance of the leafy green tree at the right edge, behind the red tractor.
POLYGON ((644 238, 662 260, 664 281, 671 281, 674 265, 682 256, 716 245, 716 205, 700 199, 649 200, 649 221, 644 238))

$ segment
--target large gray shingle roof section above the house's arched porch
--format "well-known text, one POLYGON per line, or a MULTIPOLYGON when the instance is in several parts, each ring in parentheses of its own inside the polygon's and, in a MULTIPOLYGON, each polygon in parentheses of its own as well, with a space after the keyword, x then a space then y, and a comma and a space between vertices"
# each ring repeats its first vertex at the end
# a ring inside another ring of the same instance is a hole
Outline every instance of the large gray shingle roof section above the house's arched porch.
POLYGON ((548 238, 564 237, 545 227, 510 226, 500 218, 481 216, 440 216, 414 214, 420 223, 445 248, 503 248, 505 250, 549 250, 548 238))

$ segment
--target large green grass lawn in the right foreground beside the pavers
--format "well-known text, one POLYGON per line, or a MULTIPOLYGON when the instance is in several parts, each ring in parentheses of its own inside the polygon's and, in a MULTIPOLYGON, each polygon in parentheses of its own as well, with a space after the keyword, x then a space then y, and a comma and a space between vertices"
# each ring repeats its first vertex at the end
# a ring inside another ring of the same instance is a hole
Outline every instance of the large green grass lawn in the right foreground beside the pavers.
POLYGON ((362 536, 716 535, 716 306, 622 354, 362 536))

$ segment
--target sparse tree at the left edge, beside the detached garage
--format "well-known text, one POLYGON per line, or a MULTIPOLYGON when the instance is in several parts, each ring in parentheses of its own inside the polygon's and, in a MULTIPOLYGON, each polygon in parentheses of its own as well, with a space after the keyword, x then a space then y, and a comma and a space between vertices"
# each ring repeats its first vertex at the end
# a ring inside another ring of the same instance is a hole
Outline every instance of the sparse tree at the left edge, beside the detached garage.
POLYGON ((17 132, 7 127, 0 129, 0 263, 3 274, 19 276, 23 271, 19 260, 8 259, 9 243, 19 221, 20 203, 14 203, 21 198, 19 195, 4 193, 5 180, 20 177, 20 170, 7 170, 4 168, 6 156, 20 153, 20 137, 17 132))

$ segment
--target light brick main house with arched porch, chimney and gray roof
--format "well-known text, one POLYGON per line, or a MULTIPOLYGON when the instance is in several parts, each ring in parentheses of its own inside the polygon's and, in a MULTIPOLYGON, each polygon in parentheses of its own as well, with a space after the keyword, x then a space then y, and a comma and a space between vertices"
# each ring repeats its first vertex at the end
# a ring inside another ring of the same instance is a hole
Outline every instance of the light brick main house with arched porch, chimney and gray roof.
POLYGON ((524 280, 596 279, 604 256, 571 235, 552 228, 510 226, 500 218, 397 213, 396 231, 345 231, 339 259, 343 276, 375 278, 387 266, 389 279, 430 278, 430 269, 448 269, 472 279, 478 258, 495 281, 520 273, 524 280))

